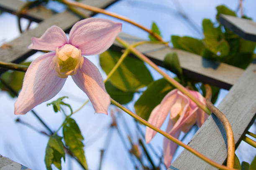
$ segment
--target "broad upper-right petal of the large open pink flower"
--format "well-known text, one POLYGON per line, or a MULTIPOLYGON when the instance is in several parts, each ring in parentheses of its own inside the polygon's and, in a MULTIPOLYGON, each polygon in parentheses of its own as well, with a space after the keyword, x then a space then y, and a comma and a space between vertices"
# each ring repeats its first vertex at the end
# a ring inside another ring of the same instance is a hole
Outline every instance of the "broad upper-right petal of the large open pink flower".
POLYGON ((82 55, 97 55, 113 44, 121 29, 121 23, 101 18, 87 18, 72 27, 69 43, 79 48, 82 55))

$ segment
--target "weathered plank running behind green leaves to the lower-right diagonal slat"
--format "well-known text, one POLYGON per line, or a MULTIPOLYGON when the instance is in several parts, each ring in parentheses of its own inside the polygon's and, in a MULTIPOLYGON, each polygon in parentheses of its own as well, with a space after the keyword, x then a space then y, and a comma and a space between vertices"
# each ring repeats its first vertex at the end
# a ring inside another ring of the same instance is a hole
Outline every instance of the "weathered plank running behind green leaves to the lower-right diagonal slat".
MULTIPOLYGON (((129 43, 141 41, 139 38, 124 33, 121 33, 119 36, 129 43)), ((118 42, 115 42, 114 45, 121 46, 118 42)), ((243 73, 243 69, 238 67, 220 62, 212 62, 199 55, 183 50, 172 49, 161 44, 140 45, 137 49, 160 66, 163 66, 163 60, 167 53, 177 52, 182 69, 188 77, 224 89, 230 89, 243 73)))

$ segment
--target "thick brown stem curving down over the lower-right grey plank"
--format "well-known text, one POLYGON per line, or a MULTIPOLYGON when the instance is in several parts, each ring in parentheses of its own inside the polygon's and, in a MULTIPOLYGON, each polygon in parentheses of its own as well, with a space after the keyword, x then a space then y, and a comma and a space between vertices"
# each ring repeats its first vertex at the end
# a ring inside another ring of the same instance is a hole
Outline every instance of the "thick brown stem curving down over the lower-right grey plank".
POLYGON ((227 143, 228 143, 228 158, 227 158, 227 166, 230 168, 234 167, 234 162, 235 162, 235 140, 234 140, 234 135, 233 131, 231 128, 231 125, 227 119, 227 117, 220 111, 218 110, 217 107, 215 107, 212 102, 211 102, 211 94, 212 94, 212 89, 210 85, 206 84, 205 85, 205 90, 206 90, 206 105, 207 107, 216 115, 220 122, 223 124, 226 135, 227 135, 227 143))

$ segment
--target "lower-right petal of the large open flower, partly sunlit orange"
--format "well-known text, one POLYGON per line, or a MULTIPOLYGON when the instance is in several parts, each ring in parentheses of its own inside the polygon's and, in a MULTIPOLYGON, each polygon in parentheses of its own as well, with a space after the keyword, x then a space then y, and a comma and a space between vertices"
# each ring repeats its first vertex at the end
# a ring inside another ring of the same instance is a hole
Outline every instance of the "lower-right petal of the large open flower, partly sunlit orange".
POLYGON ((82 67, 77 70, 77 74, 72 75, 72 78, 77 86, 87 94, 95 112, 108 114, 110 96, 106 92, 98 68, 84 57, 82 67))

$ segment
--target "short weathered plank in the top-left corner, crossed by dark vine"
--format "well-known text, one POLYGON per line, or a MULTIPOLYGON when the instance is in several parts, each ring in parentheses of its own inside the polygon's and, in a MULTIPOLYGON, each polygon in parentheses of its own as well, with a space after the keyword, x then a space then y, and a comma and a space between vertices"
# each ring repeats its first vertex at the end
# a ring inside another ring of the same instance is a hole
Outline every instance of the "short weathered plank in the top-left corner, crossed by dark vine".
MULTIPOLYGON (((20 0, 1 0, 0 10, 15 14, 25 3, 26 2, 20 0)), ((22 17, 35 22, 41 22, 42 20, 50 18, 52 15, 53 12, 51 10, 46 9, 43 6, 38 6, 29 9, 26 14, 22 15, 22 17)))

